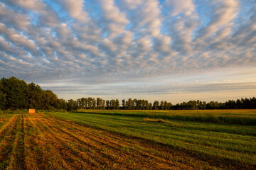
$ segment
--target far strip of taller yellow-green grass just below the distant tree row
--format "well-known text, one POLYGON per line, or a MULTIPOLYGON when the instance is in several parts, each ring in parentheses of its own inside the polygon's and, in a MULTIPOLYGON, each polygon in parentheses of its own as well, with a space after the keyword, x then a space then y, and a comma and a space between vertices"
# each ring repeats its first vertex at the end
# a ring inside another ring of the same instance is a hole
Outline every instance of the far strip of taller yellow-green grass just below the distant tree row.
POLYGON ((198 111, 95 111, 79 110, 74 113, 95 113, 142 118, 256 125, 256 110, 198 110, 198 111))

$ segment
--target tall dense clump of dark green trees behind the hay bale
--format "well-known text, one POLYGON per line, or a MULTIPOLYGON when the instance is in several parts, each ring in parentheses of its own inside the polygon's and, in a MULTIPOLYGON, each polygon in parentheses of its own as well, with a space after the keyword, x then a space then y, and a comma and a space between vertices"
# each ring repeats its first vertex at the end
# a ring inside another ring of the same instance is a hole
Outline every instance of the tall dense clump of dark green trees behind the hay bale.
POLYGON ((0 109, 28 109, 42 110, 67 109, 67 103, 59 99, 53 91, 43 90, 38 84, 16 77, 2 78, 0 81, 0 109))

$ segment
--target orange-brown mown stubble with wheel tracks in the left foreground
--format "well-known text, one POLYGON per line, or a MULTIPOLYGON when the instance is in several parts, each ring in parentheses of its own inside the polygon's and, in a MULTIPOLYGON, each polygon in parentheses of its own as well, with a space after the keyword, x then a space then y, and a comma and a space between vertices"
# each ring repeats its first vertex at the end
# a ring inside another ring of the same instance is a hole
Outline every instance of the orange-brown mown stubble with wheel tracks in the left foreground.
POLYGON ((53 115, 14 115, 0 139, 0 169, 215 169, 213 160, 53 115))

